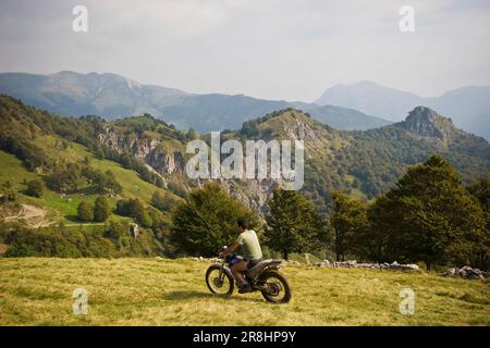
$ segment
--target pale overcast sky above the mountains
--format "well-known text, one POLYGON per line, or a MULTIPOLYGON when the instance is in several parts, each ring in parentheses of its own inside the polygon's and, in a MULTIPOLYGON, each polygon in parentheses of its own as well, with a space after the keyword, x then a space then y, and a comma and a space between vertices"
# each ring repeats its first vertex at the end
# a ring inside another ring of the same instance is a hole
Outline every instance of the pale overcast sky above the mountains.
POLYGON ((490 85, 489 0, 0 0, 0 72, 115 73, 188 92, 306 101, 371 80, 433 97, 490 85), (75 33, 75 5, 88 32, 75 33), (402 5, 415 32, 402 33, 402 5))

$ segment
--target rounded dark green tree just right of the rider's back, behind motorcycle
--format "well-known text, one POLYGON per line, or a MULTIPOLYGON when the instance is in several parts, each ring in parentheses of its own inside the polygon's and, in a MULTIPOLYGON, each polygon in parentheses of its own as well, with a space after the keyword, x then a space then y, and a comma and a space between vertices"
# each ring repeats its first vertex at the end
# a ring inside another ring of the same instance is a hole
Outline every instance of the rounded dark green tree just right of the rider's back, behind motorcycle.
POLYGON ((323 224, 314 204, 297 191, 277 189, 267 206, 267 245, 285 260, 292 252, 319 247, 324 239, 323 224))

